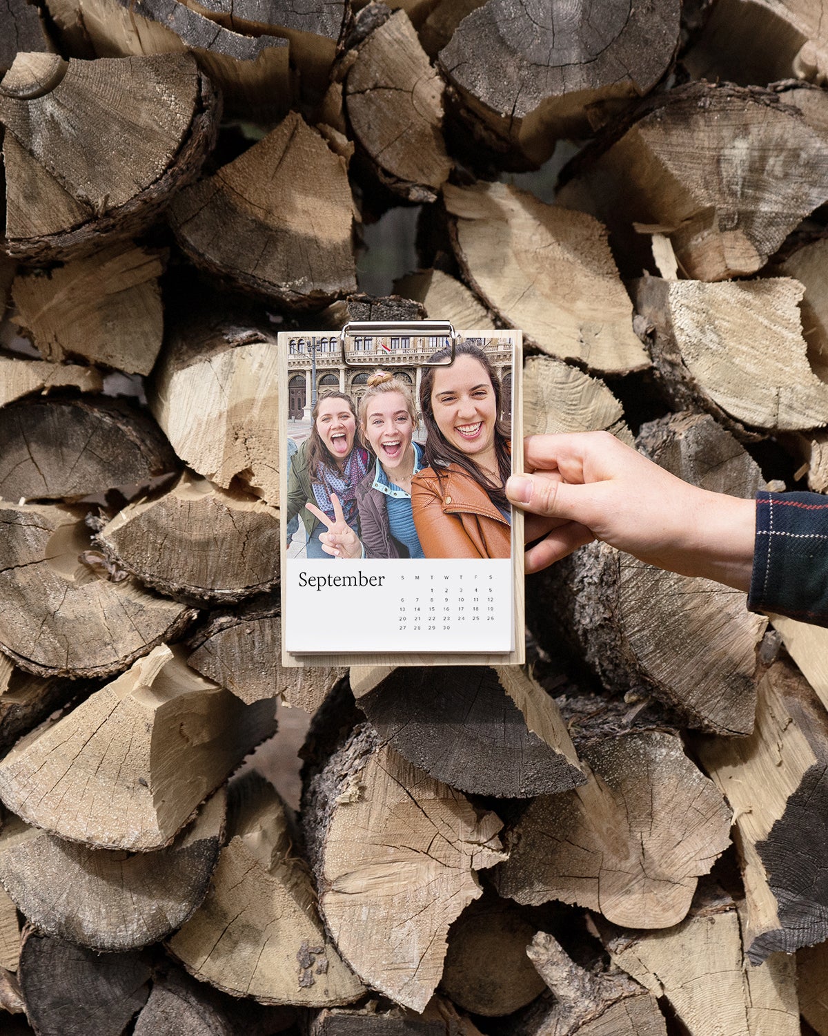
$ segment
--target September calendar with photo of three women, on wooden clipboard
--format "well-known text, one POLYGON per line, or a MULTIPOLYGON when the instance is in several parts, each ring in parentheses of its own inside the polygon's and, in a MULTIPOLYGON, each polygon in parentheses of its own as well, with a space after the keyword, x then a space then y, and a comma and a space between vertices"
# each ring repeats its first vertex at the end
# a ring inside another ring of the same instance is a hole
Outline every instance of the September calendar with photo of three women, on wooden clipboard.
POLYGON ((278 339, 284 664, 523 661, 520 332, 278 339))

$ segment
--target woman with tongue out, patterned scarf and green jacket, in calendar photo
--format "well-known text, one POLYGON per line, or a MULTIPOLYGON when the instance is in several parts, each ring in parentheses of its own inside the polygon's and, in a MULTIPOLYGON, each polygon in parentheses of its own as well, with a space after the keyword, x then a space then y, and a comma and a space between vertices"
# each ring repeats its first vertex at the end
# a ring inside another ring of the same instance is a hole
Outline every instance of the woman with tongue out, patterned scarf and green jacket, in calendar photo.
POLYGON ((368 452, 356 440, 356 408, 350 396, 324 392, 310 411, 310 435, 291 461, 285 521, 301 512, 307 557, 329 557, 319 533, 341 521, 358 535, 356 487, 365 477, 368 452))

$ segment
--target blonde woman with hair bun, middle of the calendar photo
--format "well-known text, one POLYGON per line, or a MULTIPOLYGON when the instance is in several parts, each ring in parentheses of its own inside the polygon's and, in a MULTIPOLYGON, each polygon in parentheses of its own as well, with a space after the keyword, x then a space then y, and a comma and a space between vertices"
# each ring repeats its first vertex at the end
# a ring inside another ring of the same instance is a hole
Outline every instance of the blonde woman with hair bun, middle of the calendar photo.
POLYGON ((411 479, 422 467, 414 396, 388 371, 377 371, 367 384, 359 436, 376 460, 356 487, 360 536, 345 521, 326 521, 322 549, 343 558, 423 557, 411 512, 411 479))

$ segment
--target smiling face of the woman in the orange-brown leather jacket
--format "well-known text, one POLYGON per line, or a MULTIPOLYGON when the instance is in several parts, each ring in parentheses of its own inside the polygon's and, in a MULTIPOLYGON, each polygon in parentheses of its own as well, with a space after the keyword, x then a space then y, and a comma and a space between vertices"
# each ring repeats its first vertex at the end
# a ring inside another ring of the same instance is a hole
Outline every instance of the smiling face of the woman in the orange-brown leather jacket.
POLYGON ((494 452, 497 400, 489 374, 474 356, 459 355, 434 369, 432 408, 443 438, 478 462, 494 452))

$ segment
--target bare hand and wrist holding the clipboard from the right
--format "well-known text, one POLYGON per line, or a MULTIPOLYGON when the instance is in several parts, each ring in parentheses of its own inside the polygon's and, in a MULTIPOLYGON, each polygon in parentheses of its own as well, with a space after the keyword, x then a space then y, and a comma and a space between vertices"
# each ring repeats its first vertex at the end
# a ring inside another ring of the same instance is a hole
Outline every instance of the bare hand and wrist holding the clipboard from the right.
POLYGON ((691 486, 609 432, 530 435, 506 495, 530 512, 527 572, 592 540, 642 562, 747 591, 756 505, 691 486), (534 516, 534 517, 533 517, 534 516))

